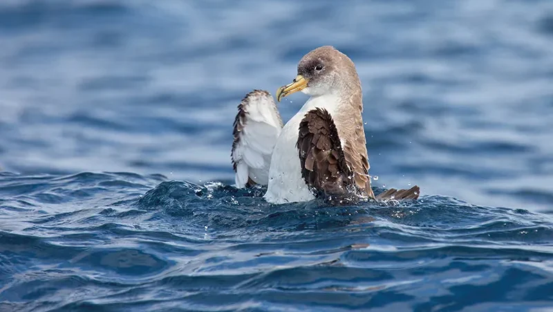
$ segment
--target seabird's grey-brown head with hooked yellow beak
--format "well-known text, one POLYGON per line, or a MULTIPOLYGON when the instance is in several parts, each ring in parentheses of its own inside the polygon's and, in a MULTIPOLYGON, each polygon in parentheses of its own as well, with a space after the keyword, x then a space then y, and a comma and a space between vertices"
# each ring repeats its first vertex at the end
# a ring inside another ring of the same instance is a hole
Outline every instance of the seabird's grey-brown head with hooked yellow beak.
POLYGON ((297 77, 291 84, 281 86, 277 100, 301 91, 318 96, 361 91, 355 65, 347 55, 332 46, 321 46, 304 55, 298 64, 297 77))

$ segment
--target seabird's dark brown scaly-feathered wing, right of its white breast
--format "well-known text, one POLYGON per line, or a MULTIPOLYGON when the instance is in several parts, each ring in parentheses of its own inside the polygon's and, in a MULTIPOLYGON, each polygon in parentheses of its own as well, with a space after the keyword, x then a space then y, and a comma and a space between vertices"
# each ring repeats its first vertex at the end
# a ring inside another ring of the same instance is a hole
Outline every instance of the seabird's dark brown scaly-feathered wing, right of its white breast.
POLYGON ((297 141, 301 176, 317 192, 347 194, 352 173, 338 131, 326 109, 313 109, 299 124, 297 141))

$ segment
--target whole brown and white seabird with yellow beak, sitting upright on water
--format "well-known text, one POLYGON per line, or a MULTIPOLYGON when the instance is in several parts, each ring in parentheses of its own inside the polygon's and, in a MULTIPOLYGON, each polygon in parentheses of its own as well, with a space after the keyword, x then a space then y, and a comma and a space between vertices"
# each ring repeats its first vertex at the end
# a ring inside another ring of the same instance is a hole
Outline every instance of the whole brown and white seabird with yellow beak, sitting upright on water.
POLYGON ((375 196, 368 175, 361 81, 349 57, 332 46, 304 55, 292 83, 277 100, 297 91, 310 95, 283 125, 268 91, 254 90, 238 105, 232 165, 236 187, 267 185, 269 203, 335 198, 418 199, 418 186, 375 196))

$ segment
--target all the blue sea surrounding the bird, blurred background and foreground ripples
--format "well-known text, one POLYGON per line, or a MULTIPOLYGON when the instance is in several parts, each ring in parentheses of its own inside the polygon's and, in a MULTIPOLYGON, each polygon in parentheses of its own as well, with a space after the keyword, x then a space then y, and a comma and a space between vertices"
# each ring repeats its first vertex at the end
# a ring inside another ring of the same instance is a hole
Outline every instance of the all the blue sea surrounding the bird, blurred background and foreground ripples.
POLYGON ((553 1, 4 0, 0 47, 2 312, 553 311, 553 1), (232 187, 236 105, 326 44, 419 201, 232 187))

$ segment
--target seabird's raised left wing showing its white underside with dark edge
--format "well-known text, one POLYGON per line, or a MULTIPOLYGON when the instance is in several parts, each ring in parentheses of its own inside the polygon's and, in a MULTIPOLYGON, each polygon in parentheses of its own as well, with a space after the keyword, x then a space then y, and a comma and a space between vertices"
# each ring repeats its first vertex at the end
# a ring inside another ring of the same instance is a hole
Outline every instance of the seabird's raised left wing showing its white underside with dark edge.
POLYGON ((236 187, 269 183, 274 145, 282 131, 282 119, 270 93, 254 90, 238 105, 234 119, 232 167, 236 187))

